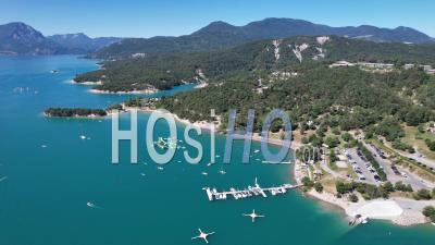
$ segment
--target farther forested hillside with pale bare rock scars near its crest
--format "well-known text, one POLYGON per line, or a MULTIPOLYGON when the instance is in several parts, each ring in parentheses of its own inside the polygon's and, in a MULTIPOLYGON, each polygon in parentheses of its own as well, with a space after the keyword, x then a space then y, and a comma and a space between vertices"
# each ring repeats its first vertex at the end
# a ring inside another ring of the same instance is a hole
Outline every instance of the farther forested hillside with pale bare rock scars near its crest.
POLYGON ((98 82, 97 89, 169 89, 183 82, 210 81, 243 72, 299 72, 334 61, 434 64, 435 45, 372 42, 343 37, 293 37, 249 42, 214 52, 160 54, 108 61, 104 69, 78 75, 76 82, 98 82))

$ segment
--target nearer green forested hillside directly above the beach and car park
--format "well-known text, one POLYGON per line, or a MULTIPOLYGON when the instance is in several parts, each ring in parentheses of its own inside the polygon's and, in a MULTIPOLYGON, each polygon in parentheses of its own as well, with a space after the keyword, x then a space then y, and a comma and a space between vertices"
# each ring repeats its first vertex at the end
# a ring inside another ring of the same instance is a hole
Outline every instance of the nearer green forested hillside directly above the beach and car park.
POLYGON ((254 109, 257 131, 261 128, 262 117, 274 108, 288 111, 295 125, 315 121, 316 125, 339 126, 344 131, 365 128, 383 120, 412 125, 434 120, 434 105, 415 99, 426 98, 423 95, 427 90, 423 87, 435 86, 435 79, 421 71, 374 74, 357 68, 315 68, 276 81, 263 93, 256 89, 257 79, 254 74, 234 76, 203 89, 165 98, 157 107, 191 121, 209 119, 210 109, 215 109, 224 117, 224 123, 228 110, 237 109, 241 126, 247 110, 254 109))

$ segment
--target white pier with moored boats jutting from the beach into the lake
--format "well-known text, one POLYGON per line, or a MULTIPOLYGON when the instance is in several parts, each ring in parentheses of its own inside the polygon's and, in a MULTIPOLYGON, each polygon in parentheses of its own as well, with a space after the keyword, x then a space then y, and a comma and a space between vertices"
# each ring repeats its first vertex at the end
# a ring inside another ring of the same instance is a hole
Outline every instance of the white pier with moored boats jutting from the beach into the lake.
POLYGON ((226 192, 217 192, 216 188, 210 187, 204 187, 203 189, 206 191, 209 200, 224 200, 227 198, 227 196, 233 196, 233 198, 237 200, 254 196, 268 197, 266 193, 271 194, 272 196, 285 194, 288 189, 297 188, 299 186, 301 185, 283 184, 276 187, 263 188, 257 183, 256 179, 256 183, 253 186, 248 186, 248 188, 241 191, 234 187, 229 188, 229 191, 226 192))

